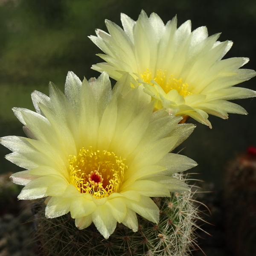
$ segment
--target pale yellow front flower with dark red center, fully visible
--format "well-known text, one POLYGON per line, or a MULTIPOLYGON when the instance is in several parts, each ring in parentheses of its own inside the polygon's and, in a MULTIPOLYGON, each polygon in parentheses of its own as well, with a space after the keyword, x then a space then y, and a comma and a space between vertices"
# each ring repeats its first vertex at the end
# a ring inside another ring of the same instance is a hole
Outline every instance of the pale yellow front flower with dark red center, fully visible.
POLYGON ((195 162, 168 152, 194 126, 177 125, 181 118, 163 110, 153 113, 150 97, 141 86, 131 89, 129 77, 111 90, 106 73, 81 82, 70 72, 65 95, 50 83, 49 97, 32 93, 36 112, 13 109, 30 138, 0 143, 13 151, 6 158, 26 169, 11 176, 25 186, 19 199, 47 197, 47 218, 70 212, 79 229, 93 222, 107 239, 117 222, 137 231, 136 213, 157 223, 150 197, 188 190, 172 174, 195 162))

